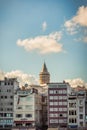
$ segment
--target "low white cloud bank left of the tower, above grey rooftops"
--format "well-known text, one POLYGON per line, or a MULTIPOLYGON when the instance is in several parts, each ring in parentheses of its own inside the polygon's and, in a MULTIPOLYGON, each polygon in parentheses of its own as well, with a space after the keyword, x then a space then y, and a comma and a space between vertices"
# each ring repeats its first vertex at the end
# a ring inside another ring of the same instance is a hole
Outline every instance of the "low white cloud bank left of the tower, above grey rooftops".
POLYGON ((38 84, 38 81, 35 76, 23 73, 20 70, 15 70, 7 73, 0 71, 0 80, 4 79, 4 77, 17 78, 20 83, 20 86, 25 85, 26 83, 29 85, 38 84))

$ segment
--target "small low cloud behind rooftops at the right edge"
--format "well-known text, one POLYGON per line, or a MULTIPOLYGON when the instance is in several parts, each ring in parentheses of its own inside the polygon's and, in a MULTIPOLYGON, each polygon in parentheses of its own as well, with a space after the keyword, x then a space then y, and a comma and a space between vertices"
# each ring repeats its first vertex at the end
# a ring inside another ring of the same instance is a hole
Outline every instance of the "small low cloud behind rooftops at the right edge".
POLYGON ((69 82, 69 84, 72 86, 72 87, 77 87, 77 86, 85 86, 87 87, 87 83, 84 82, 84 80, 82 80, 81 78, 76 78, 76 79, 67 79, 65 80, 66 82, 69 82))

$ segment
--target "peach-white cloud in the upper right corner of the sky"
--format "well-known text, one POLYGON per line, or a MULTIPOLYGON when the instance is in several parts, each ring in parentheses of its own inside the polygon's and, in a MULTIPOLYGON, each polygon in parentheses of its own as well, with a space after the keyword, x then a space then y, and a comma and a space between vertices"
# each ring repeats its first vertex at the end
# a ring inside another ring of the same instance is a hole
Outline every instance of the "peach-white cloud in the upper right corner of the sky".
POLYGON ((87 27, 87 6, 79 7, 76 15, 65 22, 64 26, 70 34, 77 33, 79 26, 87 27))

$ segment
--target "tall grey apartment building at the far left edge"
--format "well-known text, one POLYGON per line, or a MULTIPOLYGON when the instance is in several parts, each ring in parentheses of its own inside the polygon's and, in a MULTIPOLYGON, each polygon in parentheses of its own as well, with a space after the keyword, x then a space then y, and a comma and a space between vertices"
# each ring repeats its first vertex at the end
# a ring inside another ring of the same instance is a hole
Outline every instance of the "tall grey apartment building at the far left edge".
POLYGON ((14 93, 19 83, 16 78, 0 80, 0 128, 13 126, 14 93))

